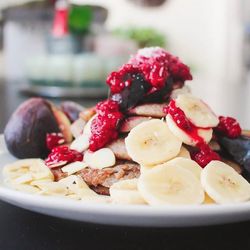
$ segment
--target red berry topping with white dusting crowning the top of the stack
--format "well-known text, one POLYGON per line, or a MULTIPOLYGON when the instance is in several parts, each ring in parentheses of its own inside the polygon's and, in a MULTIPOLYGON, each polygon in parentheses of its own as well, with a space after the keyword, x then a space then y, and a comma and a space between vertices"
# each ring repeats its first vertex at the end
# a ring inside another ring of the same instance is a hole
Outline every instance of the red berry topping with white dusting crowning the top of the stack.
POLYGON ((107 78, 107 84, 113 94, 121 92, 131 83, 131 74, 140 73, 151 84, 149 90, 162 89, 168 77, 174 81, 192 80, 190 69, 179 58, 169 54, 164 49, 153 47, 138 51, 128 64, 123 65, 118 72, 112 72, 107 78))

